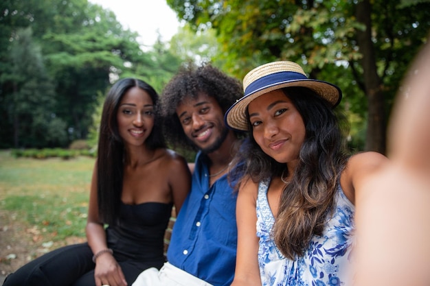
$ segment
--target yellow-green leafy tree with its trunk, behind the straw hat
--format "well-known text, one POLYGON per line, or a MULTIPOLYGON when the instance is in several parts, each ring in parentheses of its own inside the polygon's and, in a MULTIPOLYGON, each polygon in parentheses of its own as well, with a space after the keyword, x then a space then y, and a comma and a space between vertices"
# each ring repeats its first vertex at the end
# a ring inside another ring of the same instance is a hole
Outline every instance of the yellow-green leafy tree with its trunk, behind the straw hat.
POLYGON ((429 33, 428 0, 167 1, 194 30, 216 30, 224 69, 238 78, 264 62, 293 60, 310 78, 341 86, 355 133, 369 126, 358 147, 385 151, 392 99, 429 33))

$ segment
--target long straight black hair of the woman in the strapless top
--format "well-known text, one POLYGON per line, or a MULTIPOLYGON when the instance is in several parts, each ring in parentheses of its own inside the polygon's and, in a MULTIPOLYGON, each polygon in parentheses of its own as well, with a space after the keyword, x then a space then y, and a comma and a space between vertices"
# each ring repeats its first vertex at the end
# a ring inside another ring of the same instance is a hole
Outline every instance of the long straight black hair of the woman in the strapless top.
POLYGON ((166 147, 162 132, 161 120, 157 112, 159 97, 157 92, 142 80, 124 78, 113 84, 104 100, 97 157, 97 198, 98 211, 106 224, 115 223, 120 213, 122 182, 124 177, 125 149, 118 130, 117 112, 122 97, 130 88, 138 87, 146 91, 152 99, 155 109, 155 121, 152 132, 145 144, 155 150, 166 147))

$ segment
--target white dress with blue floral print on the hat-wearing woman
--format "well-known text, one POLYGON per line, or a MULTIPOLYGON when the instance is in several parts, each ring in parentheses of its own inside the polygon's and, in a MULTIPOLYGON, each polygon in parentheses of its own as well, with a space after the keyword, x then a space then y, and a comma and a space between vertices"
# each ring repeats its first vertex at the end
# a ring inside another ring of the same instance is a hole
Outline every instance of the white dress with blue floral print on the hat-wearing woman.
POLYGON ((354 240, 354 205, 340 187, 335 211, 327 219, 321 236, 314 236, 303 257, 286 259, 275 246, 271 230, 275 218, 267 201, 269 182, 260 182, 257 198, 258 263, 262 286, 351 285, 350 257, 354 240))

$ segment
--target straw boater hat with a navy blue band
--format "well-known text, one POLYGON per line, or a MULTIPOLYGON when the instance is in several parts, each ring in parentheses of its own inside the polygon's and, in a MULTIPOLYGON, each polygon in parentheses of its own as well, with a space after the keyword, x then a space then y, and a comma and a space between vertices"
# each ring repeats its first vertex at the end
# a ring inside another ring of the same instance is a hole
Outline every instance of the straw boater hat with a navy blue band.
POLYGON ((243 78, 245 95, 236 101, 225 114, 225 123, 229 128, 248 130, 248 104, 264 93, 276 89, 302 86, 309 88, 317 95, 326 99, 332 107, 341 101, 342 92, 339 87, 321 80, 311 80, 306 76, 302 67, 295 62, 269 62, 249 71, 243 78))

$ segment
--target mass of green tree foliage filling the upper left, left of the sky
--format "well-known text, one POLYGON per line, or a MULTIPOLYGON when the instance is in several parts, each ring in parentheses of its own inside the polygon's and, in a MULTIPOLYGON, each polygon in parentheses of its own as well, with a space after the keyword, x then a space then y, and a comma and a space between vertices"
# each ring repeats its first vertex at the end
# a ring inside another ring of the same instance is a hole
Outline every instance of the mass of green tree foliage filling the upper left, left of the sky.
POLYGON ((181 62, 162 44, 142 51, 137 37, 113 12, 87 0, 1 1, 0 147, 65 146, 86 139, 98 95, 118 78, 142 78, 161 91, 181 62), (32 37, 24 47, 19 33, 28 28, 32 37), (23 62, 24 52, 32 65, 23 62), (14 113, 19 106, 31 106, 31 116, 14 113), (36 110, 44 115, 34 115, 36 110), (31 132, 23 126, 32 126, 31 132), (40 140, 34 141, 35 134, 40 140))

